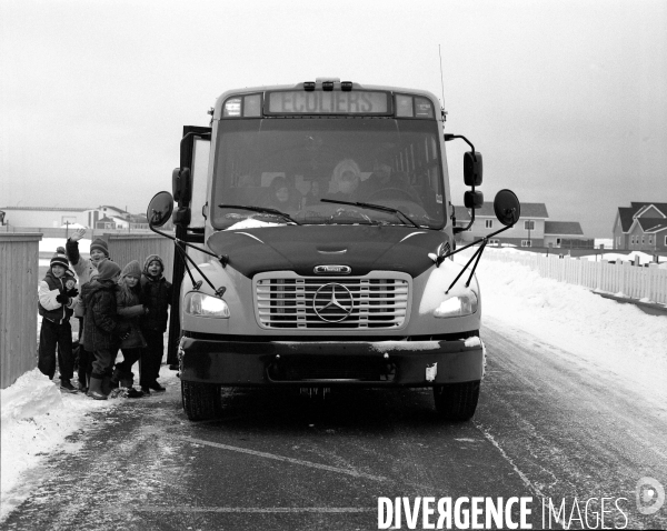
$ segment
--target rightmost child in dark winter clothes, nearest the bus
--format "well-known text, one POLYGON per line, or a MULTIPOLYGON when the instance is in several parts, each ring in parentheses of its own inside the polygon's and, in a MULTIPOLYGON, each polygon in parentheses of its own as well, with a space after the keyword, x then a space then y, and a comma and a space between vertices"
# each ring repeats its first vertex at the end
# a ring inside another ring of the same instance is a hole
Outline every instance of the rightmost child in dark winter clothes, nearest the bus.
POLYGON ((163 271, 165 262, 157 254, 150 254, 143 262, 141 299, 148 313, 141 319, 141 333, 147 347, 141 353, 140 384, 145 394, 150 394, 151 389, 165 391, 158 378, 165 353, 163 334, 169 319, 171 283, 162 277, 163 271))

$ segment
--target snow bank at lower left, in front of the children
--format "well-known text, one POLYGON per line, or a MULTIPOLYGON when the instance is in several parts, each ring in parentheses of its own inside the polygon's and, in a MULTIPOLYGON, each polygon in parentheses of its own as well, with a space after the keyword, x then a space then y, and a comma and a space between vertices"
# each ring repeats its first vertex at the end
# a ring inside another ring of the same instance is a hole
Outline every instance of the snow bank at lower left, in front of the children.
POLYGON ((78 447, 66 444, 66 438, 91 422, 86 413, 112 408, 118 401, 63 394, 54 382, 33 369, 0 391, 0 403, 2 520, 26 495, 12 492, 21 484, 22 473, 56 449, 76 451, 78 447))

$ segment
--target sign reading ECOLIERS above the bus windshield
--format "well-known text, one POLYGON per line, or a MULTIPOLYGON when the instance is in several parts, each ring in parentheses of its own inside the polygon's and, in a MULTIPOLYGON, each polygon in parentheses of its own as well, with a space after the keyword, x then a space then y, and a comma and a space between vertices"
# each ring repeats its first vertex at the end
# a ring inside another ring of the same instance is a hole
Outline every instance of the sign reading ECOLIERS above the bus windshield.
POLYGON ((280 91, 269 93, 270 114, 387 114, 387 92, 280 91))

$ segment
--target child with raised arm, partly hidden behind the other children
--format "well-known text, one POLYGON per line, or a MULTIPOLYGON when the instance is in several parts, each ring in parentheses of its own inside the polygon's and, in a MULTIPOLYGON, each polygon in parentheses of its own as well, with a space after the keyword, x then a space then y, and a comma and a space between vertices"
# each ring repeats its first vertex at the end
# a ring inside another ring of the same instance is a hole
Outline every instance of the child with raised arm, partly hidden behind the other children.
MULTIPOLYGON (((97 267, 109 259, 109 247, 107 242, 100 238, 93 240, 90 243, 90 259, 81 258, 79 253, 79 240, 86 236, 86 229, 77 230, 71 237, 68 238, 66 248, 67 256, 70 259, 74 272, 79 277, 81 285, 90 282, 93 277, 97 275, 97 267)), ((82 308, 74 308, 74 315, 79 320, 79 390, 88 391, 88 380, 90 380, 90 373, 92 371, 92 353, 88 352, 83 348, 84 341, 81 340, 81 331, 84 330, 82 308)))

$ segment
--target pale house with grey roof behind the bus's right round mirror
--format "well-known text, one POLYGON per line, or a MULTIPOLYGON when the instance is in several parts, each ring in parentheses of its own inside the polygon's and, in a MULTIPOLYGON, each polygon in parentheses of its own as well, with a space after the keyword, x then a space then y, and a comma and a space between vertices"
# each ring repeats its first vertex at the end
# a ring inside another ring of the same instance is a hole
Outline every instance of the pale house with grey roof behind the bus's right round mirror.
MULTIPOLYGON (((467 227, 470 222, 470 212, 465 207, 455 207, 456 226, 467 227)), ((515 247, 545 247, 545 223, 549 214, 545 203, 521 203, 521 218, 511 229, 489 238, 489 244, 511 244, 515 247)), ((498 221, 494 212, 494 204, 485 202, 480 209, 475 210, 472 226, 458 234, 462 243, 471 242, 479 238, 488 237, 502 229, 505 226, 498 221)))

